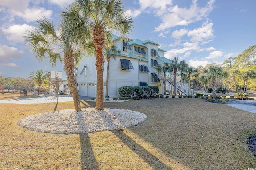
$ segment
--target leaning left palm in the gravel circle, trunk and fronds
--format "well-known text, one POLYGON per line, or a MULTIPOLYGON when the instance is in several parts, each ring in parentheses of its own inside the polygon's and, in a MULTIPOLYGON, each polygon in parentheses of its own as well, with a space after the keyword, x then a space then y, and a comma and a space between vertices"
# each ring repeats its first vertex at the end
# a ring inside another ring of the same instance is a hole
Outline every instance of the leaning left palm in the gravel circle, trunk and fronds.
POLYGON ((82 54, 77 50, 80 44, 76 36, 78 35, 75 35, 70 30, 70 25, 63 22, 63 20, 57 33, 53 23, 50 23, 44 17, 37 21, 34 31, 28 31, 25 36, 25 42, 34 52, 36 60, 45 61, 49 59, 49 63, 52 66, 56 66, 58 61, 64 63, 64 70, 67 74, 68 86, 72 93, 75 110, 81 111, 75 69, 82 59, 82 54))

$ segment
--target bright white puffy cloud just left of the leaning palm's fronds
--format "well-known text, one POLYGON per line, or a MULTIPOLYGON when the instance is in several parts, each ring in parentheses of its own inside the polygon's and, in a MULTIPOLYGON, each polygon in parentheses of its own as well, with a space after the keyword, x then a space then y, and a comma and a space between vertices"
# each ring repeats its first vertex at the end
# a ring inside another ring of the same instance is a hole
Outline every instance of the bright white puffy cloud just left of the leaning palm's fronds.
POLYGON ((6 34, 6 38, 15 43, 22 43, 24 41, 24 33, 26 31, 31 31, 33 29, 32 26, 27 24, 22 25, 12 25, 8 28, 2 29, 4 34, 6 34))

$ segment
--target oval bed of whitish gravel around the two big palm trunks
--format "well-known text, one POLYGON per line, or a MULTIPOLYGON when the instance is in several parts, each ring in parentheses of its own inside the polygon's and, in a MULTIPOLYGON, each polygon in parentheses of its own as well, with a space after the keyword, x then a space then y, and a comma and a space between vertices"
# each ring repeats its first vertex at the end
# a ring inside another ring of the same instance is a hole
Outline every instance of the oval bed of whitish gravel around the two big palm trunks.
POLYGON ((129 127, 146 118, 143 113, 124 109, 66 109, 31 115, 21 119, 18 125, 36 132, 78 134, 129 127))

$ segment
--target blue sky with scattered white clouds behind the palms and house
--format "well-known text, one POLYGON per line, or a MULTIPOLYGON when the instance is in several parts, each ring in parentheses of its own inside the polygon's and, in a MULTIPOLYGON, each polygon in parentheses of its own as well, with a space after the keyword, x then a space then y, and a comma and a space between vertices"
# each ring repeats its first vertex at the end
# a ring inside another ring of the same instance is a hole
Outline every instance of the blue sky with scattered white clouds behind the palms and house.
MULTIPOLYGON (((56 25, 72 0, 1 0, 0 76, 25 78, 33 70, 62 71, 39 63, 23 42, 42 15, 56 25)), ((123 0, 134 21, 131 39, 150 39, 190 66, 222 63, 256 45, 256 0, 123 0)))

